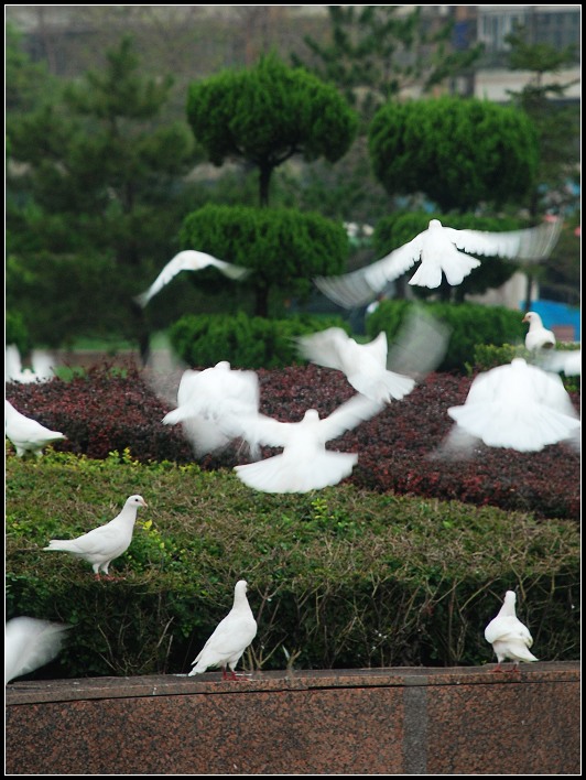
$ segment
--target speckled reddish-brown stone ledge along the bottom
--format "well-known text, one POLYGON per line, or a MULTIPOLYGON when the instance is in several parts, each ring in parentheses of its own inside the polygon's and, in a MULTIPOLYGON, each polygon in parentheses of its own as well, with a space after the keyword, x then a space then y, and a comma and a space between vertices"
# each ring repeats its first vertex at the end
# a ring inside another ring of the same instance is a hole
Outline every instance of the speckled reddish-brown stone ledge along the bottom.
POLYGON ((577 774, 579 663, 14 681, 8 774, 577 774))

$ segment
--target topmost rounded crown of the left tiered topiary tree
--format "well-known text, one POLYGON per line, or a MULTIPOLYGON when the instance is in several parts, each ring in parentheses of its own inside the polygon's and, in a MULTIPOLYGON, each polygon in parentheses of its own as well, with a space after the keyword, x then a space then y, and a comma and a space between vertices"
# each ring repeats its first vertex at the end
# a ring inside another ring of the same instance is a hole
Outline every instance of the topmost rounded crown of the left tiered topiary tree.
POLYGON ((236 158, 258 167, 262 206, 269 204, 275 167, 295 154, 336 162, 358 126, 335 87, 274 54, 248 71, 224 71, 192 84, 187 119, 214 165, 236 158))

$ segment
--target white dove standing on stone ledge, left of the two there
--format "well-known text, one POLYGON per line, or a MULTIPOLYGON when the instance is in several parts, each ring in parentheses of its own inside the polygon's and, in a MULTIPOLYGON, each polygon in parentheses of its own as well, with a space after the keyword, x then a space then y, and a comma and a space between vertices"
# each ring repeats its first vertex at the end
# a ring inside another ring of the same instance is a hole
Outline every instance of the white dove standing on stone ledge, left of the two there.
POLYGON ((236 664, 257 636, 257 621, 247 599, 248 583, 239 579, 234 588, 234 605, 193 661, 188 676, 209 667, 221 667, 223 680, 237 680, 236 664), (230 670, 228 674, 227 668, 230 670))

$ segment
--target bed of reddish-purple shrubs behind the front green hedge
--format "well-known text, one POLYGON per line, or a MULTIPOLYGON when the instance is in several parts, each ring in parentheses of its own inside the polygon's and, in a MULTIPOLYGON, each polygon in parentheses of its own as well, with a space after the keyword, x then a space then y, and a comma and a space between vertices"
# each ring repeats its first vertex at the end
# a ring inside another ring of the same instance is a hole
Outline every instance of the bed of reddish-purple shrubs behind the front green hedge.
MULTIPOLYGON (((344 375, 317 366, 259 369, 260 411, 295 422, 310 408, 330 414, 354 389, 344 375)), ((565 444, 538 453, 475 446, 473 455, 451 457, 443 449, 454 423, 448 407, 464 403, 471 378, 432 373, 406 398, 394 401, 328 448, 358 452, 349 480, 361 488, 425 498, 457 499, 477 506, 533 512, 541 518, 579 519, 579 455, 565 444)), ((159 392, 161 384, 158 382, 159 392)), ((175 398, 178 377, 169 377, 164 397, 175 398)), ((193 462, 181 426, 163 425, 174 408, 152 389, 146 372, 116 375, 108 366, 65 382, 7 384, 7 398, 23 414, 67 435, 55 448, 104 458, 129 448, 141 462, 193 462)), ((579 396, 572 394, 579 412, 579 396)), ((264 456, 279 451, 265 448, 264 456)), ((199 461, 202 468, 231 468, 245 462, 238 443, 199 461)))

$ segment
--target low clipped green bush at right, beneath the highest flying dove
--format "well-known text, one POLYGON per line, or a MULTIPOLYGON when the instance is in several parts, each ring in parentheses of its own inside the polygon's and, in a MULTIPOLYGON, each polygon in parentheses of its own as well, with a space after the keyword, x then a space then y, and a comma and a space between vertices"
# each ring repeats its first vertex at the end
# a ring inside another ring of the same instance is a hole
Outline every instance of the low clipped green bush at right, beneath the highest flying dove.
POLYGON ((438 371, 466 372, 478 344, 520 345, 524 344, 527 325, 523 315, 503 306, 484 306, 475 303, 424 303, 409 301, 382 301, 367 318, 366 328, 369 337, 375 338, 381 331, 387 333, 391 343, 408 312, 414 306, 424 306, 425 311, 451 328, 446 355, 438 371))

